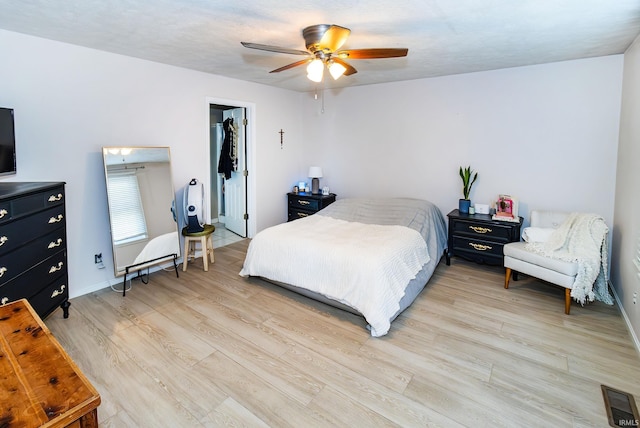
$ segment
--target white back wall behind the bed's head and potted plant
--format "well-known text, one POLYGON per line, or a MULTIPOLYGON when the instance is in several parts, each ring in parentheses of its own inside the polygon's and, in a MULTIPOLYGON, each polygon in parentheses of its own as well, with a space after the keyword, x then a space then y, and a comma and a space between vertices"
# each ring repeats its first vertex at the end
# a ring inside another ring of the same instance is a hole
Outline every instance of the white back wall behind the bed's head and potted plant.
POLYGON ((617 55, 326 91, 324 114, 308 95, 307 163, 338 197, 426 198, 445 215, 462 197, 459 166, 471 165, 474 202, 508 193, 524 217, 592 211, 611 225, 622 64, 617 55))

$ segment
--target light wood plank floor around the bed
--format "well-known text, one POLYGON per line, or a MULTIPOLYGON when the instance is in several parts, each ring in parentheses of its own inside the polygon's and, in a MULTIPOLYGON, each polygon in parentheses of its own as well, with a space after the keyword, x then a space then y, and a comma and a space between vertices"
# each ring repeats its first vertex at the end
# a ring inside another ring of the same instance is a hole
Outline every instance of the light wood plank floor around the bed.
POLYGON ((640 397, 617 307, 441 262, 382 338, 363 319, 216 262, 103 290, 46 320, 102 396, 103 427, 606 427, 601 384, 640 397))

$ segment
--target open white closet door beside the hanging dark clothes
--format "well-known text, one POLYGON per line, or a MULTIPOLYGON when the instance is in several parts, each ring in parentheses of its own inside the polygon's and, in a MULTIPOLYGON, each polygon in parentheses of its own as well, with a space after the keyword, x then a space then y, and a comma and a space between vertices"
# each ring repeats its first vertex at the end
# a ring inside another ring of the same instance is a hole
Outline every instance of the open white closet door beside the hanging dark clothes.
POLYGON ((225 110, 223 119, 233 118, 237 129, 236 157, 237 168, 231 178, 225 180, 225 227, 246 238, 247 236, 247 152, 245 109, 225 110))

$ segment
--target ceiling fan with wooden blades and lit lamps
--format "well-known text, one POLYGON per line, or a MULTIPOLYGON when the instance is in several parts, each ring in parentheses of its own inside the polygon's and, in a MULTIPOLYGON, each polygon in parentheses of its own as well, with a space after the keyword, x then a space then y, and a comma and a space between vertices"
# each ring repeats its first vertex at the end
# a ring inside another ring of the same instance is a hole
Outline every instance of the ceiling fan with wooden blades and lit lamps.
POLYGON ((406 48, 374 48, 374 49, 346 49, 339 50, 347 41, 351 30, 339 25, 319 24, 312 25, 302 30, 306 51, 288 49, 278 46, 262 45, 259 43, 241 42, 242 46, 251 49, 259 49, 269 52, 285 53, 291 55, 304 55, 305 59, 287 64, 284 67, 271 70, 270 73, 279 73, 300 65, 307 65, 307 77, 314 82, 321 82, 326 67, 334 79, 343 74, 350 76, 358 71, 345 59, 377 59, 397 58, 407 56, 406 48))

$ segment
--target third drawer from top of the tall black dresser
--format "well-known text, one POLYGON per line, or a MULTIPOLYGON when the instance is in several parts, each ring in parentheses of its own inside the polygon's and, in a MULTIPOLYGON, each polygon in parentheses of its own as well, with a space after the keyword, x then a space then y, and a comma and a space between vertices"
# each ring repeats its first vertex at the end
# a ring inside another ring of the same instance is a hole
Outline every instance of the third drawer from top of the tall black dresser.
POLYGON ((10 281, 60 250, 64 250, 65 238, 65 229, 60 228, 36 239, 30 245, 4 255, 0 260, 0 284, 10 281))

